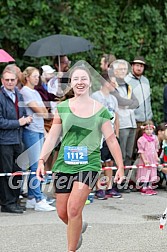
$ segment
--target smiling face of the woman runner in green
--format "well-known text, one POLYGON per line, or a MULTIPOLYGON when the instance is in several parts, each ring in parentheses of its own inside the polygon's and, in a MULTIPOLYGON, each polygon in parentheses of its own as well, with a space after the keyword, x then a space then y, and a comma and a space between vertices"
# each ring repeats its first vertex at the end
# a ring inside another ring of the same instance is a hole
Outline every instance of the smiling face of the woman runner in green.
POLYGON ((83 69, 74 70, 71 75, 71 87, 73 88, 75 95, 89 94, 90 85, 90 76, 87 71, 83 69))

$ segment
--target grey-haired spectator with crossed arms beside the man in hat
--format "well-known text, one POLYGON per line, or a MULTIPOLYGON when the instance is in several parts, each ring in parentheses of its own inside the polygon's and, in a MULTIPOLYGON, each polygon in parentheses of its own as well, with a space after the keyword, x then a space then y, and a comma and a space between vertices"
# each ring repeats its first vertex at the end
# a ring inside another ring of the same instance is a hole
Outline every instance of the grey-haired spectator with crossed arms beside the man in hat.
MULTIPOLYGON (((137 98, 133 94, 133 90, 129 84, 124 80, 124 77, 128 71, 128 62, 125 60, 116 60, 112 65, 113 73, 116 78, 117 92, 122 98, 136 100, 136 107, 138 106, 137 98)), ((119 140, 122 150, 124 165, 131 165, 131 158, 133 152, 133 144, 136 133, 136 121, 134 115, 134 109, 129 109, 127 106, 119 106, 119 140)))

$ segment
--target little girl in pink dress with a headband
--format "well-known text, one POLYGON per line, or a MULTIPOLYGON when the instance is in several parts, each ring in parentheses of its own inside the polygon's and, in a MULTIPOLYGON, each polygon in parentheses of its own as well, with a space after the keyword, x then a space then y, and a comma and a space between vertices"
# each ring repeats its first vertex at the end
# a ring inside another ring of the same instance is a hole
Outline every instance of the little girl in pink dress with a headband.
POLYGON ((157 164, 158 158, 158 138, 153 134, 155 126, 152 121, 146 121, 142 126, 143 135, 137 141, 139 159, 138 165, 143 165, 137 170, 137 182, 142 183, 142 195, 155 195, 152 183, 157 181, 157 169, 151 164, 157 164), (149 166, 150 165, 150 166, 149 166), (144 167, 145 166, 145 167, 144 167))

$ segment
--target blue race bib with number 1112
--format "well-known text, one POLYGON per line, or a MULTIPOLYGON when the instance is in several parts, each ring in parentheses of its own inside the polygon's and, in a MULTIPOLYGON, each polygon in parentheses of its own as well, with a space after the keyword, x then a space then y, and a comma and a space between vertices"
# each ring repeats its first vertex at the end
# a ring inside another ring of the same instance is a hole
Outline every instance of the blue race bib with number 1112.
POLYGON ((64 162, 66 164, 88 164, 87 146, 64 146, 64 162))

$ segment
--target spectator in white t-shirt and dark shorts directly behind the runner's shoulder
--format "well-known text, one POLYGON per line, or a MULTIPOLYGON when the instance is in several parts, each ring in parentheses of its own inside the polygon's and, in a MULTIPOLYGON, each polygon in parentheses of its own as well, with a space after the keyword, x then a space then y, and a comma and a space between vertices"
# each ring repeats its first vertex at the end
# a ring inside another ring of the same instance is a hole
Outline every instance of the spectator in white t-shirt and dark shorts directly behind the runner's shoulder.
MULTIPOLYGON (((93 99, 102 103, 105 108, 111 113, 111 124, 114 129, 114 132, 119 138, 119 118, 118 118, 118 102, 117 99, 110 94, 110 92, 114 89, 111 85, 111 80, 108 76, 108 73, 103 73, 102 75, 102 88, 99 91, 96 91, 91 96, 93 99)), ((104 137, 102 137, 101 144, 101 161, 102 166, 112 167, 114 165, 114 159, 108 149, 106 141, 104 137)), ((100 200, 107 199, 108 197, 120 198, 121 194, 117 192, 116 188, 112 188, 112 169, 104 170, 104 177, 106 178, 106 190, 102 190, 100 188, 100 179, 97 182, 97 191, 96 197, 100 200)))

